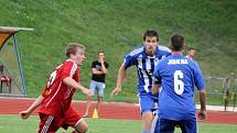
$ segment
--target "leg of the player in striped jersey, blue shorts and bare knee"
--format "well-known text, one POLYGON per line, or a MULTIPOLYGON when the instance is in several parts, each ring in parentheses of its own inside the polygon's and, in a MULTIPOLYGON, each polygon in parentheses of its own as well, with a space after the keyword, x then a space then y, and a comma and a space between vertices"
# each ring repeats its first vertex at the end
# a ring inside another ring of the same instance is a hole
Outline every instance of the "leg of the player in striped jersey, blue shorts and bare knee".
POLYGON ((142 132, 141 133, 150 133, 152 121, 153 121, 153 113, 152 113, 151 109, 154 106, 154 100, 148 95, 140 95, 139 103, 140 103, 140 108, 141 108, 141 119, 142 119, 142 132))

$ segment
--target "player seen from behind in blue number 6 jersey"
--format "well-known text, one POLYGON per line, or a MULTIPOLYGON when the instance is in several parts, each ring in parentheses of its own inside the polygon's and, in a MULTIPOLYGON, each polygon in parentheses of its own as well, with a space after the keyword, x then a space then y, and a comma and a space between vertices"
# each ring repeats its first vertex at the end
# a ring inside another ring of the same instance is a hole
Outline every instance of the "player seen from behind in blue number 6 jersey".
MULTIPOLYGON (((154 133, 173 133, 180 125, 182 133, 196 133, 194 86, 200 93, 201 120, 206 118, 206 92, 202 71, 196 62, 182 55, 184 37, 171 36, 172 55, 155 66, 153 88, 159 89, 159 121, 154 133)), ((154 89, 155 90, 155 89, 154 89)))

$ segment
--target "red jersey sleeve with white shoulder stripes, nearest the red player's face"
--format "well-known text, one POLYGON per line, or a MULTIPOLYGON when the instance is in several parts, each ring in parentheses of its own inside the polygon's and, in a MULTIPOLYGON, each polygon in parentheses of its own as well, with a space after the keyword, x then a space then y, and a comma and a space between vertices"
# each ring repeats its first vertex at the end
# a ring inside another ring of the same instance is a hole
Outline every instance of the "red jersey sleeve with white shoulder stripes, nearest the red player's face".
POLYGON ((66 62, 62 70, 62 79, 66 77, 73 77, 76 73, 77 65, 73 62, 66 62))

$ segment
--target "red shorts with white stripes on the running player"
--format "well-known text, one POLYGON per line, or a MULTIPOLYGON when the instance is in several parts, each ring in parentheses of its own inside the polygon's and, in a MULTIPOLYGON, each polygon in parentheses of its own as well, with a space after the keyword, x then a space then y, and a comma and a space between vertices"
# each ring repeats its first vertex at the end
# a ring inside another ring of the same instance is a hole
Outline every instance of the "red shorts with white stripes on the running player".
POLYGON ((39 133, 55 133, 60 128, 74 128, 82 121, 82 117, 72 107, 66 111, 65 117, 54 119, 51 114, 40 113, 40 119, 39 133))

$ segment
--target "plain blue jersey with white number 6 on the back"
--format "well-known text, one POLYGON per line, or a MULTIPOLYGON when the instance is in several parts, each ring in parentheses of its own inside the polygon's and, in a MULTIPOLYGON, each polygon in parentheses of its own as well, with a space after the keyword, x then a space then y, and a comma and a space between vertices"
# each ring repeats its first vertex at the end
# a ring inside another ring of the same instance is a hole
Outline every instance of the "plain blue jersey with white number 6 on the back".
POLYGON ((194 86, 204 89, 204 78, 196 62, 183 55, 172 55, 155 66, 154 79, 161 81, 159 117, 169 120, 194 118, 194 86))

